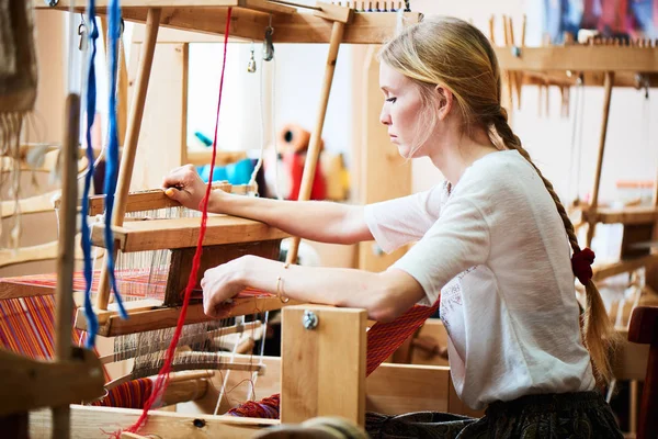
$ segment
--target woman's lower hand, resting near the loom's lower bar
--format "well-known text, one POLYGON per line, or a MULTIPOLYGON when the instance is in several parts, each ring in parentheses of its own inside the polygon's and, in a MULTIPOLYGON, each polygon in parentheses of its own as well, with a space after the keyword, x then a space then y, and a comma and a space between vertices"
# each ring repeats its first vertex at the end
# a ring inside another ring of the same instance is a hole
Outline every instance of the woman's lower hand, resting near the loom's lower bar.
POLYGON ((205 271, 201 280, 203 289, 203 311, 211 317, 217 317, 230 307, 229 299, 238 295, 247 286, 245 268, 258 259, 254 256, 243 256, 230 262, 223 263, 205 271))

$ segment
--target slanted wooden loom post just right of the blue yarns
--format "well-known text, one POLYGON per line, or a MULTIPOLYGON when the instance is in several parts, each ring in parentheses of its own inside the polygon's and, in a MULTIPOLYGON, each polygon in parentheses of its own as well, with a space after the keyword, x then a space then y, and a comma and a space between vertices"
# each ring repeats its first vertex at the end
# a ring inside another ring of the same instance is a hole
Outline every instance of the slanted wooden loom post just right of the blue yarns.
MULTIPOLYGON (((123 225, 125 216, 126 200, 131 189, 131 178, 133 176, 133 167, 135 165, 135 153, 137 149, 137 142, 139 140, 139 130, 141 127, 141 116, 144 115, 144 105, 146 103, 146 93, 148 91, 148 80, 154 63, 156 42, 158 40, 160 12, 160 9, 151 8, 148 10, 148 14, 146 16, 144 54, 139 60, 139 67, 137 69, 135 97, 131 108, 131 119, 128 121, 126 142, 121 158, 121 167, 118 169, 120 173, 115 193, 114 212, 112 215, 112 225, 114 226, 123 225)), ((105 258, 107 258, 107 255, 105 255, 105 258)), ((110 301, 110 279, 105 258, 103 258, 104 263, 101 270, 99 295, 97 297, 97 307, 99 309, 107 309, 107 302, 110 301)))

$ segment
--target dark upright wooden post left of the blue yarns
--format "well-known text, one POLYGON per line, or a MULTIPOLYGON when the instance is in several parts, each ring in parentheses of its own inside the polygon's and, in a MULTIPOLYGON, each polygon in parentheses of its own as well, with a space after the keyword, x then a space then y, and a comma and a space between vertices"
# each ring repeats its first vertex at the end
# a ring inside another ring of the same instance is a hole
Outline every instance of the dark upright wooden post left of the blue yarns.
MULTIPOLYGON (((76 255, 76 215, 78 207, 78 134, 80 133, 80 95, 66 100, 63 150, 61 207, 57 250, 57 301, 55 315, 55 361, 71 357, 71 313, 73 309, 73 268, 76 255)), ((68 438, 69 406, 53 407, 53 437, 68 438)))

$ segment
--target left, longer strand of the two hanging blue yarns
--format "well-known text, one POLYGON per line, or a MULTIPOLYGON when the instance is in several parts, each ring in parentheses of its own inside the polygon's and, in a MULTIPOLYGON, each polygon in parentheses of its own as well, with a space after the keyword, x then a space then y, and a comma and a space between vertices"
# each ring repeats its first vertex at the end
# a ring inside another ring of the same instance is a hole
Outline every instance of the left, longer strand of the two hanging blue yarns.
POLYGON ((95 54, 97 54, 97 40, 99 37, 99 29, 95 21, 95 2, 94 0, 89 1, 89 24, 91 32, 89 33, 90 48, 89 52, 89 66, 87 72, 87 160, 89 161, 89 168, 84 175, 84 189, 82 192, 82 237, 80 239, 82 254, 84 258, 84 318, 87 319, 87 331, 88 337, 86 345, 88 348, 93 348, 95 344, 95 336, 99 330, 99 320, 93 312, 91 305, 91 282, 93 280, 93 268, 91 261, 91 236, 89 230, 89 224, 87 223, 87 215, 89 214, 89 191, 91 188, 91 181, 93 178, 93 146, 91 145, 91 125, 93 124, 95 116, 95 101, 97 101, 97 83, 95 83, 95 54))

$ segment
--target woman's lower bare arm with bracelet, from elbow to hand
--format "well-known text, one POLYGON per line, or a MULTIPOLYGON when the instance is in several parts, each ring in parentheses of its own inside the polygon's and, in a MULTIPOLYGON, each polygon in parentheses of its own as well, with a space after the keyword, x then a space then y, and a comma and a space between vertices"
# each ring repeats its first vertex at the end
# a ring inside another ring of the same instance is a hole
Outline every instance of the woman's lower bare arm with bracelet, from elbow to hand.
POLYGON ((422 286, 401 270, 374 273, 354 269, 290 266, 245 256, 205 272, 201 282, 204 309, 220 314, 225 302, 246 286, 286 297, 336 306, 359 307, 368 317, 390 322, 424 296, 422 286))

